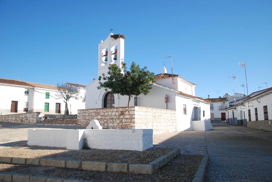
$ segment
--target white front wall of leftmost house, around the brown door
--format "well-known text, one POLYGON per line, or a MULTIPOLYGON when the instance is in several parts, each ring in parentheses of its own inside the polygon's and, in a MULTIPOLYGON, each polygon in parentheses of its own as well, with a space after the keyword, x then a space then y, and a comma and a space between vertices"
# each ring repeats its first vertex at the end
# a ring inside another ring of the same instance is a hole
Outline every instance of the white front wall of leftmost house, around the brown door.
POLYGON ((23 111, 24 102, 28 102, 28 112, 33 108, 33 90, 31 87, 11 86, 0 84, 0 115, 26 113, 23 111), (29 94, 24 91, 29 89, 29 94), (18 112, 11 113, 11 101, 18 101, 18 112))

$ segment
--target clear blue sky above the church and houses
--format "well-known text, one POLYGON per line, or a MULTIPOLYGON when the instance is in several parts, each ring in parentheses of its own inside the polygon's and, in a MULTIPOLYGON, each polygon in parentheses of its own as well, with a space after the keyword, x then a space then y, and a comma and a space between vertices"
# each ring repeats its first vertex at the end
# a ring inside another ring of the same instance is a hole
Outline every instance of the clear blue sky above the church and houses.
POLYGON ((98 43, 125 34, 125 62, 217 97, 272 86, 272 1, 0 1, 0 77, 56 85, 97 77, 98 43))

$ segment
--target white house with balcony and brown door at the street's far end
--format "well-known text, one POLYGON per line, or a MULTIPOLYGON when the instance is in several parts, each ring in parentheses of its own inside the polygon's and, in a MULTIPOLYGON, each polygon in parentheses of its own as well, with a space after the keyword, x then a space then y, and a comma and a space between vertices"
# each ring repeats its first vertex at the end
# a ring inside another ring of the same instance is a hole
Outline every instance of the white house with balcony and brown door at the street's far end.
POLYGON ((225 121, 228 99, 226 97, 210 98, 208 95, 207 100, 211 101, 211 121, 225 121))

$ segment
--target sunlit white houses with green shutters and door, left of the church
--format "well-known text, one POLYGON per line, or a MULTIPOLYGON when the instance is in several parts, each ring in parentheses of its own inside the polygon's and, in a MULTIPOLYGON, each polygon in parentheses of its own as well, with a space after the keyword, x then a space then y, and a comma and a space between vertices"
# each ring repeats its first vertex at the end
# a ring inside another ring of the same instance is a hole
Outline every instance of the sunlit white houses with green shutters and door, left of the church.
MULTIPOLYGON (((84 85, 71 84, 80 90, 79 99, 71 98, 68 109, 77 114, 85 108, 84 85)), ((56 97, 57 86, 0 78, 0 115, 43 112, 44 115, 64 114, 65 103, 56 97)))

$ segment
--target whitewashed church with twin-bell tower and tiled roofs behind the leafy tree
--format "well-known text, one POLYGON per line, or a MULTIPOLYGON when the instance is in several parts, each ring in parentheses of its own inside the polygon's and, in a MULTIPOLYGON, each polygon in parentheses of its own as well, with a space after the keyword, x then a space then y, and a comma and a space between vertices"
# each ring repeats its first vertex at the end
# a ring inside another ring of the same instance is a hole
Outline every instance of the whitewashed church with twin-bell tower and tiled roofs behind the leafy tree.
MULTIPOLYGON (((112 38, 113 34, 98 44, 98 77, 107 74, 110 64, 121 67, 124 61, 124 39, 112 38)), ((179 75, 162 73, 155 75, 156 83, 148 95, 133 96, 131 106, 176 110, 177 130, 193 130, 193 121, 210 121, 210 101, 195 96, 196 84, 179 75), (165 102, 167 96, 167 103, 165 102), (134 102, 133 102, 134 101, 134 102)), ((86 89, 86 109, 125 107, 128 96, 112 94, 110 90, 97 89, 99 80, 93 80, 86 89)))

